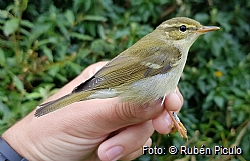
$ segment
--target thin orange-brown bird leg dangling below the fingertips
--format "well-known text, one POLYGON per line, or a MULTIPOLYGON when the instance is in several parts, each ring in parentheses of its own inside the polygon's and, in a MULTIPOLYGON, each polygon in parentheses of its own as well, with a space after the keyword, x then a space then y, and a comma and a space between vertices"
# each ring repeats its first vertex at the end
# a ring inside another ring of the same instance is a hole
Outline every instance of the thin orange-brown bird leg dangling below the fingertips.
MULTIPOLYGON (((168 111, 168 110, 167 110, 168 111)), ((187 136, 187 130, 184 127, 184 125, 181 123, 179 117, 177 116, 176 113, 171 113, 170 111, 168 111, 169 116, 171 117, 172 121, 173 121, 173 129, 171 130, 171 133, 175 132, 176 130, 178 130, 178 132, 180 133, 181 137, 184 137, 186 139, 188 139, 187 136)))

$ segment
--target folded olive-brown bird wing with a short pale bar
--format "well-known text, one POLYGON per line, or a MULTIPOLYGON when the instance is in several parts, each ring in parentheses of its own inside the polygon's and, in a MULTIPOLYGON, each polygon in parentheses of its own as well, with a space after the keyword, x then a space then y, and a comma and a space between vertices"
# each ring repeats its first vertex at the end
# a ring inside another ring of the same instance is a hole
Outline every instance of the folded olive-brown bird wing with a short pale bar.
POLYGON ((112 89, 146 77, 164 74, 178 64, 180 59, 179 49, 166 45, 151 46, 144 50, 125 50, 72 92, 112 89))

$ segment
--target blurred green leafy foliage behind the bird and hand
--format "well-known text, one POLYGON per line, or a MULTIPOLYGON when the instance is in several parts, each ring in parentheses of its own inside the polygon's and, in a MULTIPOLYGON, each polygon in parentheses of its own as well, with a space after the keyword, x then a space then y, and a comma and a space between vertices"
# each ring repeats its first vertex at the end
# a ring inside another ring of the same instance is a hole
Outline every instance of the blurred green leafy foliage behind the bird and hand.
POLYGON ((191 47, 179 87, 189 140, 153 146, 237 145, 243 155, 145 155, 137 160, 250 160, 249 0, 0 0, 0 134, 88 65, 109 60, 162 21, 186 16, 221 30, 191 47))

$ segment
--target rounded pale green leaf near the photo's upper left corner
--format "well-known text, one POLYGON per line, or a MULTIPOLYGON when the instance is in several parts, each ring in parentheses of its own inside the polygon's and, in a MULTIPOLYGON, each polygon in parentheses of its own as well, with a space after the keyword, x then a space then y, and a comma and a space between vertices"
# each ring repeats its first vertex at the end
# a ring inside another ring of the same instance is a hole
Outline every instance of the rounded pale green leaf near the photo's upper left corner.
POLYGON ((3 27, 3 32, 5 35, 9 36, 18 29, 18 26, 19 26, 19 20, 17 18, 12 18, 5 22, 3 27))

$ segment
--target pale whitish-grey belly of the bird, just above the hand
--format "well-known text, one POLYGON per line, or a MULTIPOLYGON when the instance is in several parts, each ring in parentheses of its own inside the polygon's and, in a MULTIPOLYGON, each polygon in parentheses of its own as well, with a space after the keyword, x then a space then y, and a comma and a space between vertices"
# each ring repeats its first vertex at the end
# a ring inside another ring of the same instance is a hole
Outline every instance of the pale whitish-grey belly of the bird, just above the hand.
POLYGON ((156 101, 176 89, 180 75, 181 73, 172 70, 166 74, 141 79, 129 86, 118 88, 118 97, 122 101, 131 101, 138 104, 156 101))

